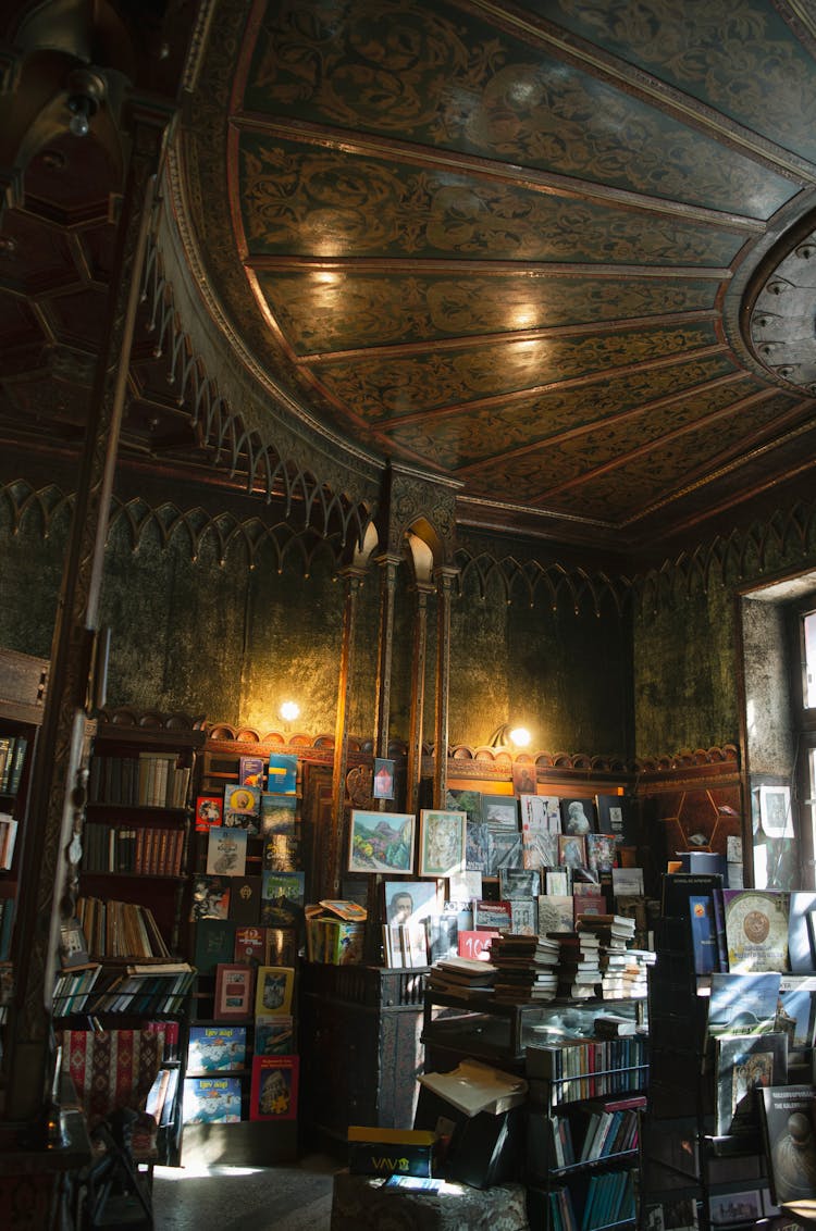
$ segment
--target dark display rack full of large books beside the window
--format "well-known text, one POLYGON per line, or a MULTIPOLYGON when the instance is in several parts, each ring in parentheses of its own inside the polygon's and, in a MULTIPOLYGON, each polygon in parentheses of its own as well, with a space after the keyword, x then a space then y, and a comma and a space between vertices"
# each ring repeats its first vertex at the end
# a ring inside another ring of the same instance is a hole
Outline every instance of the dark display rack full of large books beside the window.
POLYGON ((816 894, 673 873, 661 907, 642 1224, 750 1225, 816 1197, 816 894))

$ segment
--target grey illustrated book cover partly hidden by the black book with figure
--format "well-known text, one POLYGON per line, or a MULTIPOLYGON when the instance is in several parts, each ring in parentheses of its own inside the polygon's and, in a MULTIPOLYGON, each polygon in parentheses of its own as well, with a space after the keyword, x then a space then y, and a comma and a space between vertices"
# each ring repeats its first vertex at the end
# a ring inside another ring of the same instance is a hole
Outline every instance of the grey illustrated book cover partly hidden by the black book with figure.
POLYGON ((786 1077, 786 1035, 722 1034, 714 1044, 715 1134, 751 1133, 759 1126, 757 1091, 786 1077))

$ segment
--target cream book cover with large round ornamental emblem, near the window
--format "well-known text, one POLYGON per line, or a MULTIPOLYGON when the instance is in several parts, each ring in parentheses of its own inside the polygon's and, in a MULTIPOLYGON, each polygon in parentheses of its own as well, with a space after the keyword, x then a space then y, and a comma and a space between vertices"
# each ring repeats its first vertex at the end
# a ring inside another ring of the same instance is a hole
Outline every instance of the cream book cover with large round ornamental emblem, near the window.
POLYGON ((730 970, 788 970, 788 904, 782 889, 722 890, 730 970))

